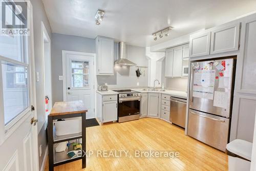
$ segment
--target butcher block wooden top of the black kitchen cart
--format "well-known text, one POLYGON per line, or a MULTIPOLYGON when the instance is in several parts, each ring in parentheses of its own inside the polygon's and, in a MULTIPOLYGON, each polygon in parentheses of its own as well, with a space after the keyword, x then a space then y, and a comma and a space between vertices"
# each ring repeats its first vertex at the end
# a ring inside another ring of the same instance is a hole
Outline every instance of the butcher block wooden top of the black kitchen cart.
POLYGON ((86 113, 88 110, 81 100, 55 102, 49 116, 86 113))

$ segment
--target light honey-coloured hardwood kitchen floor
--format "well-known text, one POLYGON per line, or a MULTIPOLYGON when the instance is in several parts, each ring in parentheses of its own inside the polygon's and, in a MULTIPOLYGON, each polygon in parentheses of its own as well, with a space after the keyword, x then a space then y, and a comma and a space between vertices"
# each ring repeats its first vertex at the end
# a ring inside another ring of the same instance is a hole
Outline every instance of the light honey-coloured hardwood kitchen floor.
MULTIPOLYGON (((127 150, 131 157, 87 157, 54 167, 54 170, 228 170, 227 155, 184 135, 184 130, 160 119, 142 118, 87 128, 88 150, 127 150), (139 151, 179 152, 178 158, 136 158, 139 151)), ((96 152, 95 152, 96 153, 96 152)), ((48 161, 46 169, 48 170, 48 161)))

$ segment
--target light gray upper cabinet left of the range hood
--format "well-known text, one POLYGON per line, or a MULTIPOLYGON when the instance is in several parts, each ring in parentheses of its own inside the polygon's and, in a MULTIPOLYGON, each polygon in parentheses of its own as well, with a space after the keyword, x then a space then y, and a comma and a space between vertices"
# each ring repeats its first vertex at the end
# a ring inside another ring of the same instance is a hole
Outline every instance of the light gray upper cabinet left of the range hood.
POLYGON ((96 38, 96 71, 97 75, 114 75, 114 39, 96 38))

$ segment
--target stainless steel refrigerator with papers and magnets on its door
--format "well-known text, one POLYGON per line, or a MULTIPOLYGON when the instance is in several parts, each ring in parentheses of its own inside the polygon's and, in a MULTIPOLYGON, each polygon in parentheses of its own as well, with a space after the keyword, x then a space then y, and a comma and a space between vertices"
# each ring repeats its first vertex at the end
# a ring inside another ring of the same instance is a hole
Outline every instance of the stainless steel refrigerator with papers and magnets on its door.
POLYGON ((236 58, 191 62, 188 135, 225 151, 236 58))

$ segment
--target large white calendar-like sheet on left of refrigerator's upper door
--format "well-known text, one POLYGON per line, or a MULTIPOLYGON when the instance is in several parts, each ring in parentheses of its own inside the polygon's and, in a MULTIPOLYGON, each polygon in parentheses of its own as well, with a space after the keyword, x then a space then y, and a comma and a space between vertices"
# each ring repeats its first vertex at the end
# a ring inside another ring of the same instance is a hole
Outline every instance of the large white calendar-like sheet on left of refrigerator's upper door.
POLYGON ((215 70, 195 70, 193 97, 214 99, 215 70))

